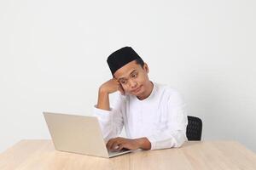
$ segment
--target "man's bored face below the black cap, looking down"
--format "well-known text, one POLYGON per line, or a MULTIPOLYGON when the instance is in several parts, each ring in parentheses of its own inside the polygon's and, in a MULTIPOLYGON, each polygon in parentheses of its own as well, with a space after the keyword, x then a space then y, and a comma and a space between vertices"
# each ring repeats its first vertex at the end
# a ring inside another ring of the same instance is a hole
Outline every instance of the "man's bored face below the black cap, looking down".
POLYGON ((140 96, 148 87, 148 65, 145 63, 142 67, 136 60, 131 61, 115 71, 113 77, 119 81, 126 94, 140 96))

